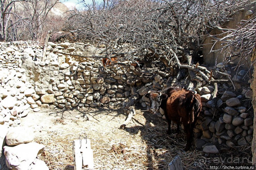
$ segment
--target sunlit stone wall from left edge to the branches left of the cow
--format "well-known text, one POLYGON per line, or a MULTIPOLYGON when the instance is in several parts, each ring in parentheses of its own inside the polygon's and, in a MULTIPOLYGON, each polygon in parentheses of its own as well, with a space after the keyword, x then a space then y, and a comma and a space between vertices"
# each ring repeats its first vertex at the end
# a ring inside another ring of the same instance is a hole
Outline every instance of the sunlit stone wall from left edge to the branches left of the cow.
POLYGON ((34 43, 1 44, 1 124, 19 124, 29 108, 37 112, 41 108, 121 106, 136 93, 138 74, 134 68, 104 68, 100 60, 76 61, 75 57, 61 54, 71 48, 70 53, 83 54, 84 48, 87 55, 92 55, 93 46, 89 50, 83 43, 49 42, 48 60, 41 62, 43 49, 34 43))

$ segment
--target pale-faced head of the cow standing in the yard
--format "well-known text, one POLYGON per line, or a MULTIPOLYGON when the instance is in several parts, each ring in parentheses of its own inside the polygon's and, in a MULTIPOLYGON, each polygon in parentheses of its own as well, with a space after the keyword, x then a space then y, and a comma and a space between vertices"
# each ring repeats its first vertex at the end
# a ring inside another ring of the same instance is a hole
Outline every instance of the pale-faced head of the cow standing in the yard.
POLYGON ((150 100, 150 109, 151 113, 155 113, 159 106, 161 105, 162 93, 156 91, 148 91, 148 94, 145 94, 145 97, 148 97, 150 100))

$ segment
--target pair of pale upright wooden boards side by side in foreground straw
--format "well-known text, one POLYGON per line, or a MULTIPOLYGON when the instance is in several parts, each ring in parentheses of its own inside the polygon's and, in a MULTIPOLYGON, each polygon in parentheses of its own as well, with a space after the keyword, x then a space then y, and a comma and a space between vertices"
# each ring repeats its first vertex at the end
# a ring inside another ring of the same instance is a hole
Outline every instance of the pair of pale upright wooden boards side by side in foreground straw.
POLYGON ((93 151, 89 139, 78 139, 73 141, 74 170, 82 170, 82 167, 88 169, 94 168, 93 151))

